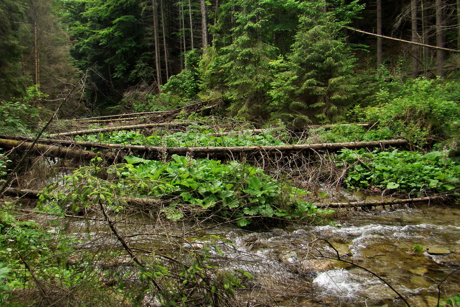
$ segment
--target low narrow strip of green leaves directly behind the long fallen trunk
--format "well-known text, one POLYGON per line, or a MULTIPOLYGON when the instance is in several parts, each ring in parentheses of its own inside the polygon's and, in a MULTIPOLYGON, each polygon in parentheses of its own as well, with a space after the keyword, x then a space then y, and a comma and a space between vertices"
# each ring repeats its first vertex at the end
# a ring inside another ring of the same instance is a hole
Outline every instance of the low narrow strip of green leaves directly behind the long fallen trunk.
MULTIPOLYGON (((275 129, 273 130, 275 132, 275 129)), ((212 129, 192 128, 188 132, 173 134, 157 130, 153 135, 146 137, 134 131, 119 131, 110 134, 86 135, 76 139, 88 142, 102 142, 131 145, 151 145, 168 147, 220 147, 220 146, 255 146, 255 145, 285 145, 270 131, 261 134, 244 131, 225 135, 212 135, 212 129)))

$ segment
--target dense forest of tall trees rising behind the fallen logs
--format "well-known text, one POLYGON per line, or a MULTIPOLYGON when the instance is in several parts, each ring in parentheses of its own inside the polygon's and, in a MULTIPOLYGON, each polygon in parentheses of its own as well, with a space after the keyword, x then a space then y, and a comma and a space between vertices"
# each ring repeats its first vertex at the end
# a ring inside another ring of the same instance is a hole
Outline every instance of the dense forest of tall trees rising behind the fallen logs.
POLYGON ((456 52, 380 49, 344 28, 457 49, 456 2, 439 3, 387 1, 379 22, 377 2, 363 0, 2 0, 0 99, 36 104, 26 89, 39 85, 53 109, 84 75, 64 116, 199 98, 261 123, 337 121, 375 104, 385 83, 457 78, 456 52))

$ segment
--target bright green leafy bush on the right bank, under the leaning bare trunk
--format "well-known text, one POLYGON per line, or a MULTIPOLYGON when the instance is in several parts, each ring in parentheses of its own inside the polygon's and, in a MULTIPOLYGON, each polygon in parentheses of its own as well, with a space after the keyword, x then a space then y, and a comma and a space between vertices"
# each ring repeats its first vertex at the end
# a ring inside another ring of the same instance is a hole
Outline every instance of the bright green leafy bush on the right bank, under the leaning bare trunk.
POLYGON ((358 106, 354 112, 360 121, 377 122, 380 130, 392 131, 392 138, 423 146, 458 134, 458 82, 425 78, 393 81, 378 92, 376 99, 378 105, 358 106))

